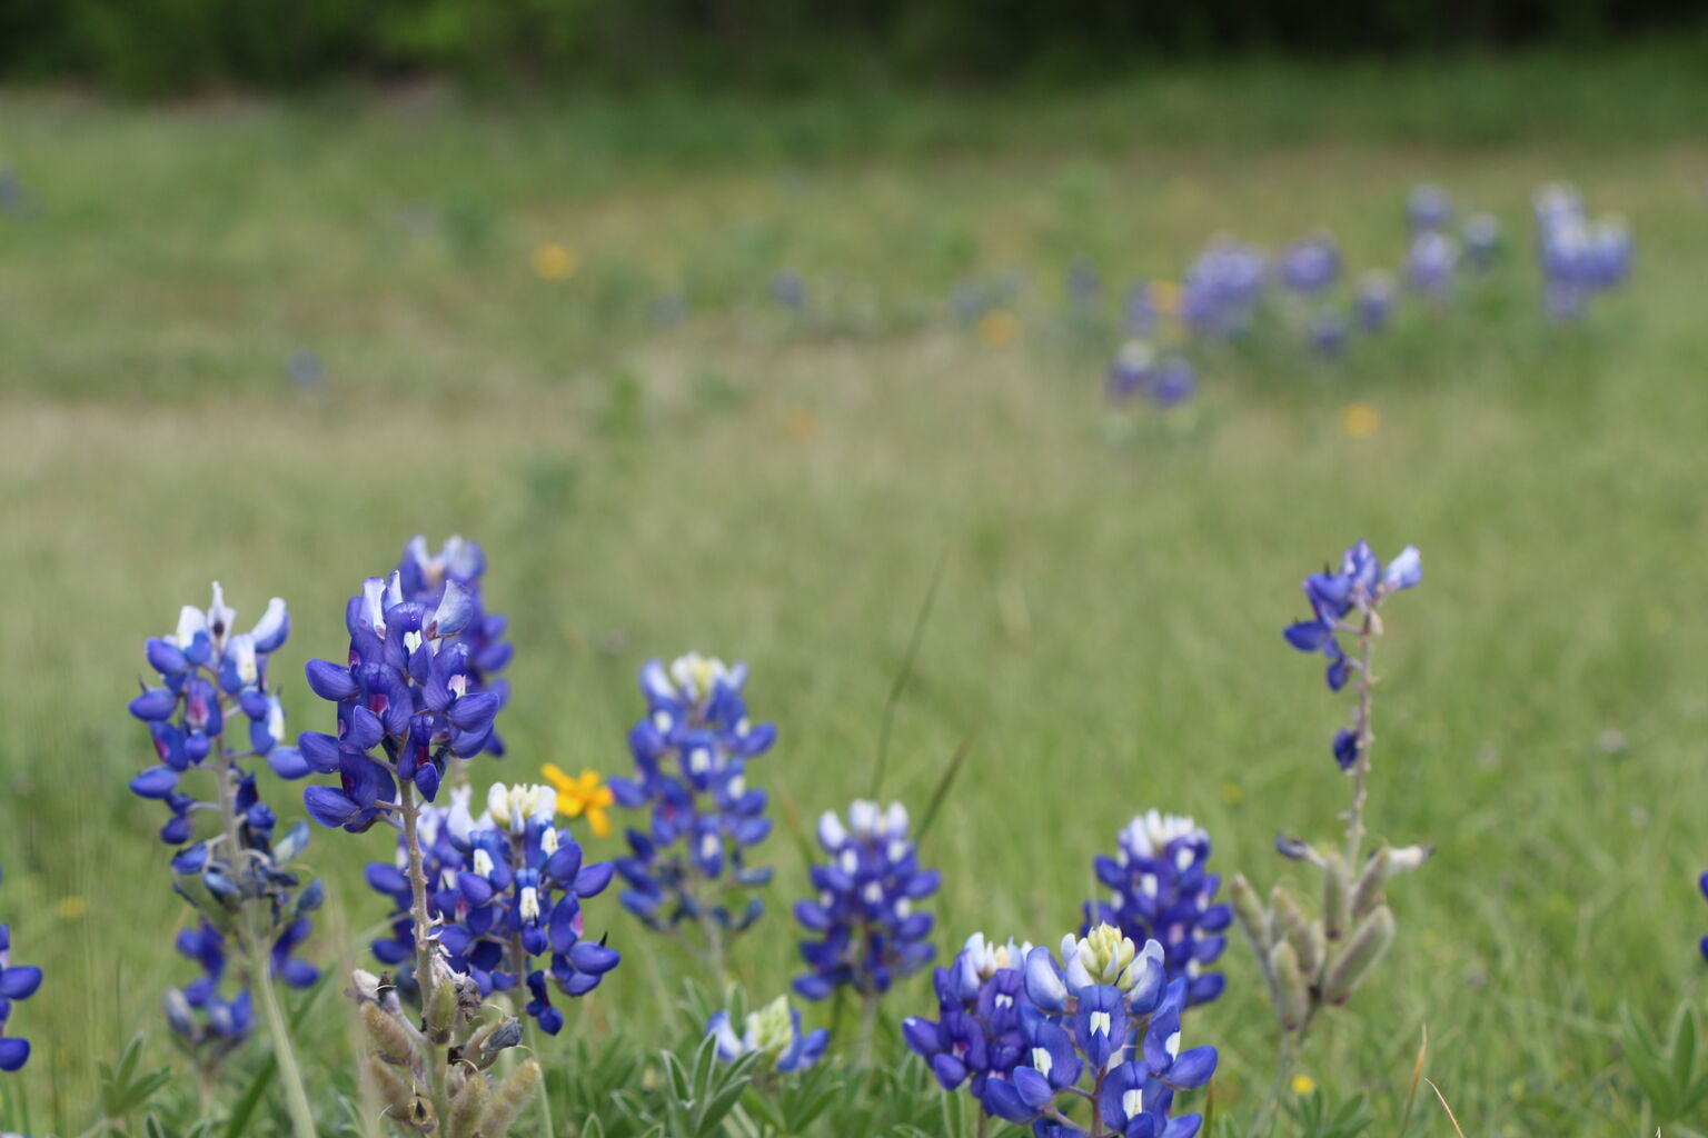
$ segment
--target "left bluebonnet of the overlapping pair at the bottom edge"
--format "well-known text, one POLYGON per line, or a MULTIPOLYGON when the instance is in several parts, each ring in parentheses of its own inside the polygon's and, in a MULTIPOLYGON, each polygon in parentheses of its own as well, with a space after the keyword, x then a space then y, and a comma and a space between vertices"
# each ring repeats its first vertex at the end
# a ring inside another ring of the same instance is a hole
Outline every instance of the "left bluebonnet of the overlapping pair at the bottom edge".
POLYGON ((902 1020, 907 1046, 931 1065, 945 1090, 965 1083, 982 1102, 986 1083, 1009 1078, 1025 1058, 1021 969, 1030 952, 1030 943, 997 945, 974 933, 955 961, 933 974, 938 1019, 910 1015, 902 1020))

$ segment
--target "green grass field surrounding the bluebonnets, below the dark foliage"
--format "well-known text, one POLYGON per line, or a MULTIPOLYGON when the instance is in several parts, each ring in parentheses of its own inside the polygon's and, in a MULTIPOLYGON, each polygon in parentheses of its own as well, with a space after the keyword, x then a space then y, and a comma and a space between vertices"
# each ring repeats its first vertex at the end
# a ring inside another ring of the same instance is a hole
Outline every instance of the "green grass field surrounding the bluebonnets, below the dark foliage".
MULTIPOLYGON (((91 1121, 96 1060, 130 1032, 169 1056, 157 993, 188 973, 159 810, 126 790, 152 761, 125 713, 143 638, 210 578, 243 621, 280 594, 292 727, 330 729, 301 665, 343 652, 343 599, 415 532, 482 541, 512 618, 512 754, 480 783, 623 771, 639 665, 700 648, 750 662, 781 730, 753 780, 808 826, 868 788, 941 561, 885 795, 919 807, 974 737, 927 846, 945 959, 974 930, 1056 942, 1090 858, 1153 805, 1196 814, 1223 872, 1288 875, 1274 833, 1329 836, 1346 800, 1344 706, 1279 636, 1298 580, 1360 536, 1416 543, 1372 829, 1440 850, 1303 1070, 1392 1133, 1426 1027, 1465 1133, 1653 1133, 1616 1010, 1701 1002, 1708 932, 1708 84, 1682 58, 1440 87, 1182 72, 1037 107, 0 96, 32 198, 0 213, 0 916, 50 969, 10 1027, 38 1046, 38 1133, 91 1121), (1534 304, 1529 195, 1553 177, 1638 235, 1635 280, 1575 328, 1534 304), (1354 266, 1392 263, 1423 179, 1513 237, 1481 299, 1337 365, 1218 358, 1190 408, 1112 442, 1114 340, 1057 319, 1071 261, 1102 270, 1110 322, 1110 293, 1216 230, 1274 247, 1325 224, 1354 266), (574 251, 569 280, 531 271, 541 242, 574 251), (769 302, 779 268, 813 316, 769 302), (956 280, 1015 268, 1013 343, 946 314, 956 280), (688 314, 663 328, 666 293, 688 314), (325 360, 313 391, 285 375, 299 350, 325 360), (1354 401, 1380 415, 1366 438, 1341 430, 1354 401)), ((755 995, 796 971, 804 885, 787 827, 765 850, 770 913, 733 957, 755 995)), ((316 833, 321 962, 383 914, 359 872, 379 856, 381 833, 316 833)), ((627 962, 569 1031, 663 1039, 687 961, 615 894, 601 923, 627 962)), ((1272 1022, 1243 943, 1226 973, 1192 1036, 1240 1116, 1272 1022)), ((929 1010, 921 976, 886 1015, 929 1010)), ((1413 1133, 1450 1126, 1431 1109, 1413 1133)))

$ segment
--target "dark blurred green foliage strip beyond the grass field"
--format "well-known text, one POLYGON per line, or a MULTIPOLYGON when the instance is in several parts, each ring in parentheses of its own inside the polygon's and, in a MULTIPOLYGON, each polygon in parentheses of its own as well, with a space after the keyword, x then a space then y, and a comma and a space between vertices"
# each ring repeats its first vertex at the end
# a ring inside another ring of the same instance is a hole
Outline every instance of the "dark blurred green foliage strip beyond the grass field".
POLYGON ((1180 53, 1600 44, 1699 19, 1688 0, 5 0, 0 78, 138 94, 422 70, 483 84, 989 84, 1180 53))

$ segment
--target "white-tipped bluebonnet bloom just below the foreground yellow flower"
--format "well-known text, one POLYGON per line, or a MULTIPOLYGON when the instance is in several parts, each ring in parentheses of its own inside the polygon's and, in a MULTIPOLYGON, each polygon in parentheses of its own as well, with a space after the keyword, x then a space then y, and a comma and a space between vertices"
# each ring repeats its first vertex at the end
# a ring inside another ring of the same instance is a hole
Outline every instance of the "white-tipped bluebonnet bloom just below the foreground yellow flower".
MULTIPOLYGON (((611 865, 588 863, 569 829, 555 824, 550 787, 497 783, 478 819, 470 795, 456 787, 449 805, 427 805, 417 817, 432 940, 451 973, 470 978, 482 996, 519 996, 526 986, 524 1012, 555 1036, 564 1015, 552 1007, 552 986, 584 996, 620 962, 603 938, 586 937, 581 909, 605 892, 611 865), (536 957, 545 959, 536 966, 536 957)), ((396 862, 367 865, 367 884, 393 903, 391 935, 374 942, 374 955, 403 966, 417 952, 405 838, 396 862)))

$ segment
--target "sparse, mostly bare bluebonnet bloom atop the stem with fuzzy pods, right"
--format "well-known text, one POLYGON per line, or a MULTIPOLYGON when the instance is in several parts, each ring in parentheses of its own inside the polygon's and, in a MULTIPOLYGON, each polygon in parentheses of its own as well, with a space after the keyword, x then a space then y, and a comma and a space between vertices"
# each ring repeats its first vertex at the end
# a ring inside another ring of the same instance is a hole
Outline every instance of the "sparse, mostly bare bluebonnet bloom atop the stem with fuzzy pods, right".
MULTIPOLYGON (((1329 659, 1325 679, 1331 691, 1344 688, 1356 671, 1361 691, 1366 693, 1370 638, 1380 631, 1377 609, 1387 597, 1413 589, 1419 580, 1423 580, 1423 558, 1414 546, 1401 549, 1401 554, 1383 568, 1370 543, 1360 541, 1342 554, 1337 572, 1325 566, 1305 578, 1303 589, 1310 599, 1312 618, 1288 624, 1286 642, 1300 652, 1320 652, 1329 659), (1356 657, 1341 648, 1341 635, 1358 638, 1356 657)), ((1353 769, 1368 746, 1365 703, 1360 701, 1358 722, 1334 737, 1334 759, 1342 771, 1353 769)))

